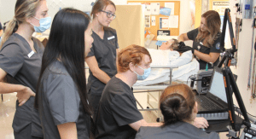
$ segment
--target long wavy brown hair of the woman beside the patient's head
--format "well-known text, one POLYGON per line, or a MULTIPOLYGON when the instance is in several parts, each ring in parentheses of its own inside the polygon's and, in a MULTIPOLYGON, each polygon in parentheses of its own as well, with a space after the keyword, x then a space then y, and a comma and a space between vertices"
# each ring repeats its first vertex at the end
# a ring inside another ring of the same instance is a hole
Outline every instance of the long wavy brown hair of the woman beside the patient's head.
POLYGON ((203 44, 207 47, 211 47, 214 41, 218 38, 218 32, 220 32, 220 16, 217 11, 209 10, 202 14, 201 17, 206 19, 207 32, 201 32, 198 28, 198 35, 195 41, 200 42, 203 40, 203 44))

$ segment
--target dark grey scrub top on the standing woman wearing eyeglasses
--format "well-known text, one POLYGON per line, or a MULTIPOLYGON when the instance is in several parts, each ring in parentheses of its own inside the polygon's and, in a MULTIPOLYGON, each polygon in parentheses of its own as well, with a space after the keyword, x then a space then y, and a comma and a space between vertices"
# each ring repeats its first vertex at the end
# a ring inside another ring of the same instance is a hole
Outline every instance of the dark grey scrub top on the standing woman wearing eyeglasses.
MULTIPOLYGON (((94 39, 90 52, 87 55, 95 56, 98 67, 108 74, 110 78, 117 73, 116 68, 116 49, 119 49, 116 31, 110 27, 104 27, 104 37, 100 38, 96 32, 92 32, 91 37, 94 39)), ((91 95, 102 96, 102 91, 106 84, 102 83, 98 78, 90 75, 88 78, 87 92, 91 95), (90 90, 90 91, 89 91, 90 90)))

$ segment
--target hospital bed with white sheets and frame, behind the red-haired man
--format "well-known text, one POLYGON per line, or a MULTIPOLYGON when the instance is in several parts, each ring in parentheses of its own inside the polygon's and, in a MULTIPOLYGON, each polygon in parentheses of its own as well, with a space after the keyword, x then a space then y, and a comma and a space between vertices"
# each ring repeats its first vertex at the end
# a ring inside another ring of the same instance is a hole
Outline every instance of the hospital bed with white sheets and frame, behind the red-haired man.
MULTIPOLYGON (((190 75, 197 74, 199 71, 199 63, 195 59, 192 59, 191 52, 183 53, 185 61, 176 62, 179 53, 166 50, 148 49, 152 63, 150 65, 151 72, 148 78, 143 81, 137 81, 133 85, 133 91, 135 96, 137 93, 143 96, 143 101, 147 99, 147 106, 145 103, 141 104, 140 98, 137 99, 137 106, 140 111, 153 111, 157 118, 160 119, 159 110, 159 98, 161 91, 165 90, 166 87, 172 84, 173 81, 186 82, 190 75), (189 58, 186 58, 189 57, 189 58), (172 62, 173 61, 173 62, 172 62), (145 93, 147 92, 147 93, 145 93)), ((86 67, 88 69, 88 67, 86 67)), ((86 70, 86 77, 89 76, 89 70, 86 70)), ((137 97, 136 97, 137 98, 137 97)))

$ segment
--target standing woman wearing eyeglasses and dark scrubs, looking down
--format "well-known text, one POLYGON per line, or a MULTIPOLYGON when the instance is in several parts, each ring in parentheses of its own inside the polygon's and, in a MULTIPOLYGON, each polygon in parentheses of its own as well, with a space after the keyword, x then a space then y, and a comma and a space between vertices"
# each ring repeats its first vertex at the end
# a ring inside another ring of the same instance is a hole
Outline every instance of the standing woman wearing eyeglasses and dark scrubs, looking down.
POLYGON ((91 36, 94 43, 85 61, 90 68, 87 93, 89 104, 93 108, 93 119, 105 85, 117 73, 116 57, 119 53, 119 44, 116 31, 108 27, 116 17, 115 10, 112 1, 98 0, 90 13, 93 17, 91 36))

